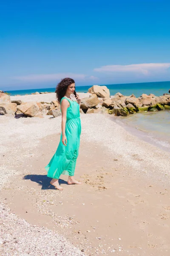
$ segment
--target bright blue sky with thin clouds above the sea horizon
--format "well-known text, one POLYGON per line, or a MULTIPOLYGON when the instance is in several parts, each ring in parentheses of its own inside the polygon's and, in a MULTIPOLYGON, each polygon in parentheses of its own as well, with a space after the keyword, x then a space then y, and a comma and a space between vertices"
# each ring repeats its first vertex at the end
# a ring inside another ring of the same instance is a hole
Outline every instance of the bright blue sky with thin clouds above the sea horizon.
POLYGON ((164 0, 0 3, 0 90, 170 81, 164 0))

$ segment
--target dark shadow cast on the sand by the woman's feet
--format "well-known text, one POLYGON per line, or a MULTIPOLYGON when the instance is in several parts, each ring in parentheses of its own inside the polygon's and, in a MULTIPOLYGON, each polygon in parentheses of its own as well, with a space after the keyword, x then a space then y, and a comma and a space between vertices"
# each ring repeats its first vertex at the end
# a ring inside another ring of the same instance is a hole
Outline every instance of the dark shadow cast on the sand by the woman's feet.
MULTIPOLYGON (((42 186, 41 189, 55 189, 55 187, 50 184, 51 178, 47 177, 47 175, 26 175, 23 177, 23 180, 36 182, 39 184, 38 186, 42 186)), ((59 179, 59 185, 60 184, 67 184, 67 181, 59 179)))

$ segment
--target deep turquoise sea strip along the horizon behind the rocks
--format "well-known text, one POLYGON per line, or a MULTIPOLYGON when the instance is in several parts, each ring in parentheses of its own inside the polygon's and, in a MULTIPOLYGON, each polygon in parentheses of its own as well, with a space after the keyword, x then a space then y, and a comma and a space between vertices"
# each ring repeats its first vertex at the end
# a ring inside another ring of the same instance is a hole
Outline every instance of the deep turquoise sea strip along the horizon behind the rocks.
MULTIPOLYGON (((123 95, 134 94, 136 97, 142 95, 142 93, 150 94, 153 93, 156 96, 163 95, 168 93, 170 90, 170 81, 167 82, 151 82, 151 83, 136 83, 136 84, 105 84, 111 95, 114 95, 117 92, 122 93, 123 95)), ((92 85, 91 85, 92 86, 92 85)), ((76 86, 77 92, 86 93, 91 86, 76 86)), ((31 89, 31 90, 13 90, 7 91, 11 95, 25 95, 35 92, 55 92, 55 88, 43 88, 43 89, 31 89)))

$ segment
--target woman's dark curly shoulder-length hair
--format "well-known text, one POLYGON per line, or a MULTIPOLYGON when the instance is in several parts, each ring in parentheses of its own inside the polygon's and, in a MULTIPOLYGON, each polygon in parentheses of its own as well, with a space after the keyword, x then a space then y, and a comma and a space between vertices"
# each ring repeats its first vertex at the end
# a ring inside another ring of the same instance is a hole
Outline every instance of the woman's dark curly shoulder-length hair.
MULTIPOLYGON (((60 104, 62 97, 65 96, 66 90, 70 84, 75 84, 75 81, 71 78, 64 78, 62 79, 56 87, 55 93, 56 97, 58 99, 58 102, 60 104)), ((76 89, 76 88, 75 88, 76 89)), ((76 90, 74 90, 74 95, 77 96, 76 90)))

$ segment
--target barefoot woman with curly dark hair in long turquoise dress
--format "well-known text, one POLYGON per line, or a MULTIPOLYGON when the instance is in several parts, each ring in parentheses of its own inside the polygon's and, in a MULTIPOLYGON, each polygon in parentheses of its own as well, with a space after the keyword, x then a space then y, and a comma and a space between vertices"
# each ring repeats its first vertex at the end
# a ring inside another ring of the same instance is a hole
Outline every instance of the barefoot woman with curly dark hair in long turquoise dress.
POLYGON ((79 154, 79 143, 81 134, 80 103, 81 99, 75 91, 75 82, 71 78, 62 79, 56 87, 56 96, 61 105, 62 133, 56 153, 50 163, 45 167, 48 177, 51 177, 51 185, 62 190, 59 185, 61 174, 69 175, 68 184, 82 184, 74 179, 74 170, 79 154), (77 102, 71 100, 74 93, 77 102))

